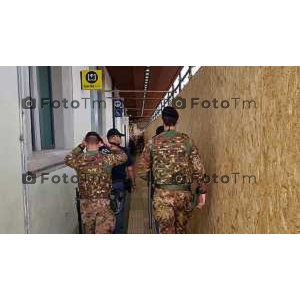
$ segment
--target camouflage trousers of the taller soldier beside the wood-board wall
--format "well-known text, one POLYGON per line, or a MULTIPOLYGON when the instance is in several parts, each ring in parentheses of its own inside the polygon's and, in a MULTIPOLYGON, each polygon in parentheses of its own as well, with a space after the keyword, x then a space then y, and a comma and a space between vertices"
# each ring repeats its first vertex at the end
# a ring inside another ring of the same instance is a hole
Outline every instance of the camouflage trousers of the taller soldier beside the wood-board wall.
POLYGON ((159 233, 186 233, 191 193, 155 188, 153 216, 159 233))

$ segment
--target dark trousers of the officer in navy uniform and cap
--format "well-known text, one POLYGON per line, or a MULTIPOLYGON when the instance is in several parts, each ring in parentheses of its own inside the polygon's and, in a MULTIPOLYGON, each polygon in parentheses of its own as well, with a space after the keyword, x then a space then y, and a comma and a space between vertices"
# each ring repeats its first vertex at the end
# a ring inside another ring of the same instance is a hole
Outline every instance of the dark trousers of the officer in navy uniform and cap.
POLYGON ((112 189, 119 205, 118 213, 115 215, 114 234, 126 233, 125 228, 125 201, 126 191, 123 181, 112 181, 112 189))

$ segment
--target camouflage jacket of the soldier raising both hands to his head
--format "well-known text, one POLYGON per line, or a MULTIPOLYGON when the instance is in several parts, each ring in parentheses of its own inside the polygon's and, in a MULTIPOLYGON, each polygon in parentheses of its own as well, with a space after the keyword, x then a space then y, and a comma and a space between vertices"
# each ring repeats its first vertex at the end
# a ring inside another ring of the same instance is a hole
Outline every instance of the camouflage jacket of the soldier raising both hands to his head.
POLYGON ((111 169, 127 160, 122 150, 102 154, 98 151, 83 153, 80 146, 64 157, 64 163, 75 169, 80 198, 107 198, 111 189, 111 169))

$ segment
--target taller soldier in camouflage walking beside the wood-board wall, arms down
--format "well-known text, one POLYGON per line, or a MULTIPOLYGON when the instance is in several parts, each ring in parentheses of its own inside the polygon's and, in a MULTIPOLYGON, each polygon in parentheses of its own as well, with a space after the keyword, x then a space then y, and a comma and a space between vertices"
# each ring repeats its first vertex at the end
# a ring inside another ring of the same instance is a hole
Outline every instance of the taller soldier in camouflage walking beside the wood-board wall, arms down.
POLYGON ((154 177, 153 215, 159 233, 186 233, 192 197, 198 208, 205 203, 204 168, 189 136, 175 130, 177 111, 166 106, 162 120, 164 131, 147 143, 142 155, 144 166, 152 169, 154 177))

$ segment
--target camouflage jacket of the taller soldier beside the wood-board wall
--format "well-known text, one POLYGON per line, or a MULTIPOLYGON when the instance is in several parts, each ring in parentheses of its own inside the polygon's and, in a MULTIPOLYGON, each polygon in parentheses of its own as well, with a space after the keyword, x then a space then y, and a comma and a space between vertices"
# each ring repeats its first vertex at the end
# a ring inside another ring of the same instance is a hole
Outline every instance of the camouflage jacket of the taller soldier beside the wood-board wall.
POLYGON ((201 182, 204 167, 197 147, 189 136, 176 130, 163 131, 145 146, 143 165, 152 169, 155 184, 195 183, 205 192, 201 182), (177 175, 179 175, 177 177, 177 175))

